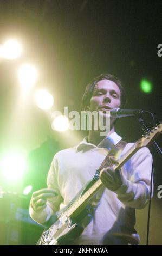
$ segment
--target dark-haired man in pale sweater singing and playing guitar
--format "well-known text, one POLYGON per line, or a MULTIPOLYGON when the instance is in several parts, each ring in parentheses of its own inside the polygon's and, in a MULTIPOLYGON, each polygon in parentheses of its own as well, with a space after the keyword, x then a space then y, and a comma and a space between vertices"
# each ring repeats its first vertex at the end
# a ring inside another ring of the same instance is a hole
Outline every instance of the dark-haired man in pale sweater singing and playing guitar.
MULTIPOLYGON (((124 107, 125 90, 113 75, 103 74, 91 81, 82 98, 82 110, 107 115, 109 109, 124 107)), ((114 145, 121 141, 115 132, 115 119, 110 119, 108 137, 114 145)), ((100 130, 91 130, 76 147, 59 151, 48 173, 48 189, 33 193, 30 216, 38 223, 49 220, 51 214, 66 206, 78 191, 93 178, 108 150, 100 147, 100 130), (98 146, 99 145, 99 146, 98 146)), ((127 143, 123 155, 133 143, 127 143)), ((91 202, 91 218, 82 224, 83 233, 72 245, 139 244, 134 229, 135 209, 142 209, 150 196, 152 155, 145 147, 137 151, 121 168, 103 169, 100 179, 103 189, 91 202)))

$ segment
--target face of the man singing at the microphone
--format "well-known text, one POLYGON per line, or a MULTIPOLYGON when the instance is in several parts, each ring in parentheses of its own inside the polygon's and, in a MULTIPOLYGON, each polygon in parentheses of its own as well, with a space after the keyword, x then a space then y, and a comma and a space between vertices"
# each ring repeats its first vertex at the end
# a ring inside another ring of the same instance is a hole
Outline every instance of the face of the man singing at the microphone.
MULTIPOLYGON (((121 92, 117 84, 111 80, 101 80, 96 83, 90 99, 90 111, 109 111, 121 105, 121 92)), ((106 113, 106 112, 105 112, 106 113)))

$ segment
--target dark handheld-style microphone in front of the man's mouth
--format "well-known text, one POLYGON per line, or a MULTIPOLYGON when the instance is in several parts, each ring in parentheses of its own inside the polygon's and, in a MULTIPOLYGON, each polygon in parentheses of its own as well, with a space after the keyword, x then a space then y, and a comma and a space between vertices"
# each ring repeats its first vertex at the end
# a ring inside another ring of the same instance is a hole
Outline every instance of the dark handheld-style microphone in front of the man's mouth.
POLYGON ((113 118, 120 118, 120 117, 139 117, 142 113, 147 112, 140 109, 121 109, 121 108, 113 108, 110 111, 110 115, 113 118))

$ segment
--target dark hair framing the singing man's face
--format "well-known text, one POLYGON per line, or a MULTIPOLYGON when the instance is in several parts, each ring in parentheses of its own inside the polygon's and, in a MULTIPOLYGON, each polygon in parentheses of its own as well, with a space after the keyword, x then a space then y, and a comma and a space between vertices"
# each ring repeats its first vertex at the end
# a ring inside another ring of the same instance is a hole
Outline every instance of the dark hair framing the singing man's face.
POLYGON ((121 83, 119 78, 115 77, 115 76, 113 76, 111 74, 101 74, 101 75, 95 77, 92 81, 90 81, 87 84, 87 87, 86 87, 85 93, 83 94, 82 102, 81 102, 81 110, 82 111, 86 111, 87 110, 87 107, 90 104, 90 99, 91 99, 91 97, 93 95, 96 83, 101 81, 101 80, 103 80, 103 79, 111 80, 111 81, 113 81, 113 82, 115 82, 117 84, 117 86, 119 87, 120 92, 121 92, 121 107, 122 108, 125 107, 125 105, 127 103, 127 95, 126 95, 126 91, 125 91, 124 85, 121 83))

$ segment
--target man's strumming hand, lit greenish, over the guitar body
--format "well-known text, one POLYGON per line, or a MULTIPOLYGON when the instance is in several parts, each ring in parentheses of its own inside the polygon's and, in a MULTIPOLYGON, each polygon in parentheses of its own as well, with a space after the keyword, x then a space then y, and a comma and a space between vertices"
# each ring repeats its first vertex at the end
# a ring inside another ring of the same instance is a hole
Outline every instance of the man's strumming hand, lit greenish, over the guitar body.
POLYGON ((47 199, 56 197, 57 193, 55 190, 49 188, 43 188, 42 190, 37 190, 32 194, 31 197, 31 207, 35 212, 41 212, 47 206, 47 199))

